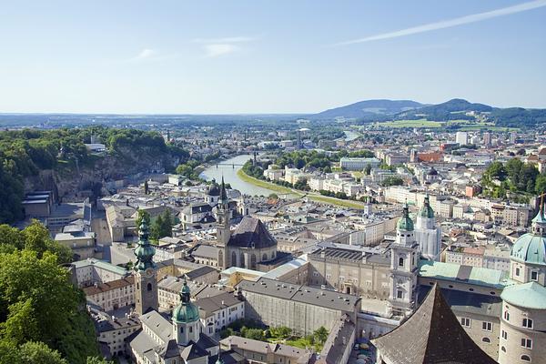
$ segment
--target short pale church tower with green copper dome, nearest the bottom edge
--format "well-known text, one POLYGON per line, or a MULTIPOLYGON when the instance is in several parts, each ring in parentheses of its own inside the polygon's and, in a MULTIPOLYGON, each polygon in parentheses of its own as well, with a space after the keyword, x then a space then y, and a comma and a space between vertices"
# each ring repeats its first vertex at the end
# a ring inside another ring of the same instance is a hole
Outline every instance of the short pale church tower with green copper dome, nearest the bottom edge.
POLYGON ((173 338, 177 340, 178 345, 187 346, 190 341, 194 343, 199 339, 201 332, 199 321, 199 310, 196 305, 190 301, 189 287, 186 279, 180 289, 180 303, 173 310, 173 338))

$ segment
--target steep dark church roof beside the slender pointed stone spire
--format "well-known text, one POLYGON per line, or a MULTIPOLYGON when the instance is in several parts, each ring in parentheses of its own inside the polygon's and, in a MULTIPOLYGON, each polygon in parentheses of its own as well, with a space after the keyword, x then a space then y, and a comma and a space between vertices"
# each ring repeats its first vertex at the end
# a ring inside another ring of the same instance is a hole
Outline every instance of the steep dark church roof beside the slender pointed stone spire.
POLYGON ((270 248, 277 240, 269 234, 265 225, 256 217, 244 217, 227 242, 228 247, 270 248))

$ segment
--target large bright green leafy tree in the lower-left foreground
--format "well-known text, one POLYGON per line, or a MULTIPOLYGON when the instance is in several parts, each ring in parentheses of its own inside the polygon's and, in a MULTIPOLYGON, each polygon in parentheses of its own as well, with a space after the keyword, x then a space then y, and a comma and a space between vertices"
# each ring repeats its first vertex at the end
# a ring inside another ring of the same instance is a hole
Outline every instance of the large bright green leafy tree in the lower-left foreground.
POLYGON ((2 253, 0 267, 1 338, 15 346, 42 341, 76 364, 96 355, 95 328, 83 310, 85 296, 71 284, 55 254, 30 248, 2 253))

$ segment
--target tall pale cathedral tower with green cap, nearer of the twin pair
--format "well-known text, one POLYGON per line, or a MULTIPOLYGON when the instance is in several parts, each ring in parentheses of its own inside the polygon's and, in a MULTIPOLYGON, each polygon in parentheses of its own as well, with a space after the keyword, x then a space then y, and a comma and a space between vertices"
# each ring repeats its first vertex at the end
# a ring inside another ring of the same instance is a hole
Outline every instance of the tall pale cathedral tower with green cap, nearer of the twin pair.
POLYGON ((396 227, 396 240, 390 245, 389 303, 392 316, 409 316, 415 308, 419 244, 415 240, 408 205, 396 227))

